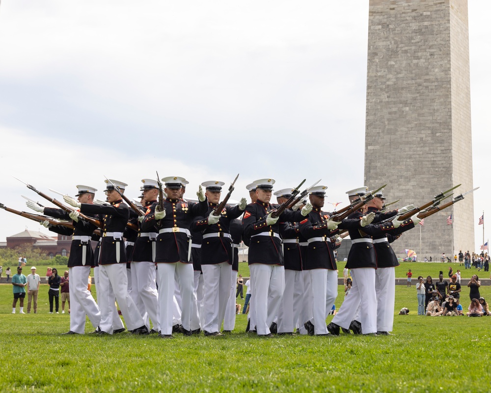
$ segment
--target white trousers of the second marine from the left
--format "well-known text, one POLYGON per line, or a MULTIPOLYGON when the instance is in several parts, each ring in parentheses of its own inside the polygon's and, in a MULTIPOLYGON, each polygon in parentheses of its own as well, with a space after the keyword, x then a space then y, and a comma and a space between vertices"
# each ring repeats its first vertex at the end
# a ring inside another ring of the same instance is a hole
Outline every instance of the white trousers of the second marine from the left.
MULTIPOLYGON (((111 304, 114 304, 114 298, 110 297, 110 292, 113 291, 118 302, 119 309, 123 314, 128 330, 132 331, 144 325, 135 303, 128 294, 128 281, 126 276, 125 264, 110 264, 99 266, 99 281, 101 289, 108 288, 108 303, 104 302, 100 305, 101 308, 101 330, 112 334, 112 318, 105 318, 105 315, 111 314, 111 304), (109 320, 110 319, 110 320, 109 320)), ((115 307, 115 306, 114 306, 115 307)), ((117 311, 116 311, 117 312, 117 311)), ((119 318, 119 316, 118 316, 119 318)))

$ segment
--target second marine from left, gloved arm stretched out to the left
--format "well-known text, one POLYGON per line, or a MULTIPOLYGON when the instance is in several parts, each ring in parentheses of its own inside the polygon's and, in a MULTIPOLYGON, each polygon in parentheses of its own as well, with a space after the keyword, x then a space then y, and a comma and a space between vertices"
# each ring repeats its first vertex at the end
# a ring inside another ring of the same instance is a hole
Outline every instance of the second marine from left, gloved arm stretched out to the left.
POLYGON ((98 268, 100 294, 102 295, 99 302, 101 308, 100 334, 113 334, 113 314, 110 307, 110 303, 113 303, 111 290, 114 292, 128 330, 133 334, 148 334, 143 318, 136 308, 135 302, 128 294, 127 258, 123 232, 128 224, 130 211, 116 190, 117 187, 122 192, 127 184, 117 180, 105 181, 109 205, 82 203, 68 196, 63 197, 66 203, 80 208, 81 213, 99 214, 101 217, 102 240, 98 268))

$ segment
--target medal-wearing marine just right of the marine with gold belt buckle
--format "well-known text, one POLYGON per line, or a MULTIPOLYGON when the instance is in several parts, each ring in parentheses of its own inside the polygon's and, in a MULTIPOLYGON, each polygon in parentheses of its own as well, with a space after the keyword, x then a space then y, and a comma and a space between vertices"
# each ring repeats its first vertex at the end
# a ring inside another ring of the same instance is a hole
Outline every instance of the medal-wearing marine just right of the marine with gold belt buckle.
POLYGON ((191 226, 195 232, 201 232, 201 270, 204 280, 204 325, 205 336, 223 336, 219 330, 225 316, 225 308, 230 296, 232 276, 233 247, 230 235, 230 223, 239 217, 246 208, 246 198, 237 206, 226 205, 218 216, 213 212, 221 196, 221 181, 206 181, 201 185, 206 188, 208 210, 196 217, 191 226))

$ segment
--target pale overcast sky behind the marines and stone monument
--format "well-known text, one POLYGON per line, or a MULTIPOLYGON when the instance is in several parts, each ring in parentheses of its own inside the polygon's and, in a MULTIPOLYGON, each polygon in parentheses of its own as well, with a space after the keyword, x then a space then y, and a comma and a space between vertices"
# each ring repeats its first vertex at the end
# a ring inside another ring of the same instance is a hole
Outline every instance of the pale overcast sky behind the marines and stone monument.
MULTIPOLYGON (((477 249, 491 1, 468 3, 477 249)), ((37 199, 12 175, 51 195, 90 185, 102 199, 104 176, 136 197, 158 170, 186 177, 190 196, 240 173, 234 199, 261 177, 276 190, 322 178, 327 201, 344 205, 363 185, 367 36, 368 0, 2 0, 0 202, 37 199)), ((42 228, 0 220, 0 241, 42 228)))

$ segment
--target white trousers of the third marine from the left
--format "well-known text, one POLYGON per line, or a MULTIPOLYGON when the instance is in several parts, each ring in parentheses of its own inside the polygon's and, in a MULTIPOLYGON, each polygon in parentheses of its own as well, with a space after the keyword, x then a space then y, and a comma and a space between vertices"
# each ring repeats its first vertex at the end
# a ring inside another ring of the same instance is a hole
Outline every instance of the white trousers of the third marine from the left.
POLYGON ((136 308, 145 321, 145 326, 150 331, 150 320, 153 328, 160 330, 157 319, 157 309, 159 308, 159 296, 155 284, 155 263, 154 262, 131 262, 131 281, 132 299, 136 308))

